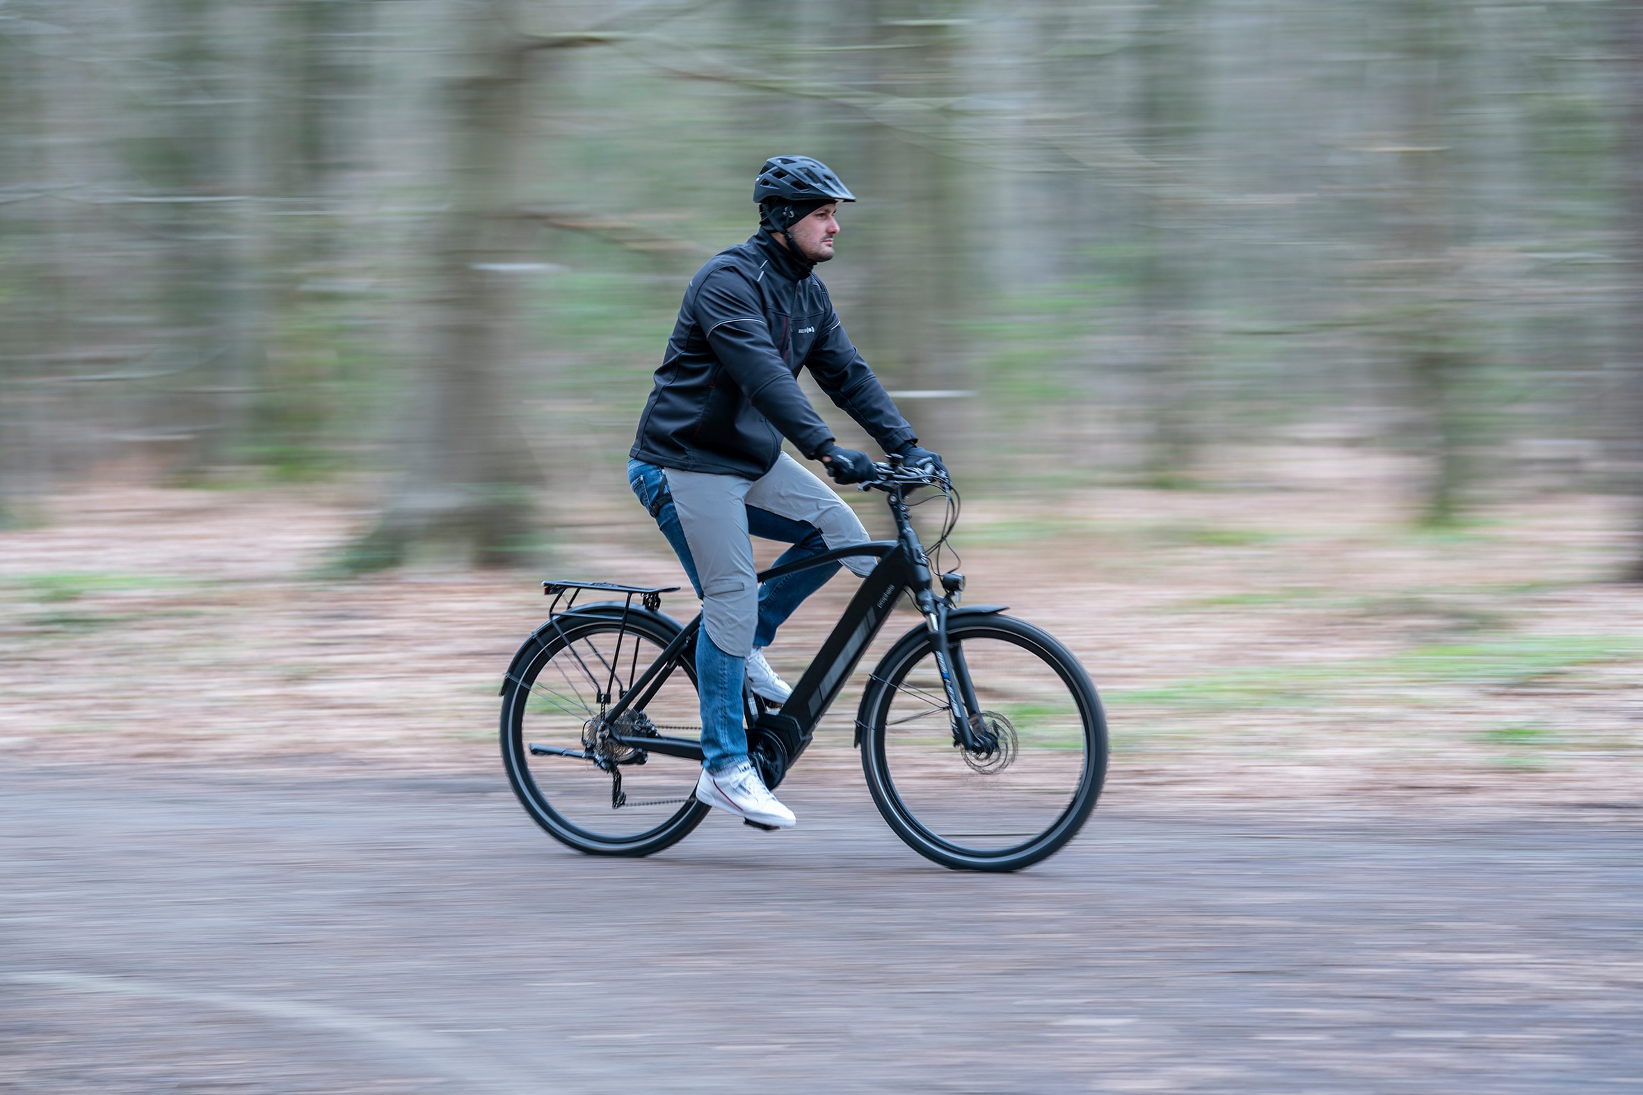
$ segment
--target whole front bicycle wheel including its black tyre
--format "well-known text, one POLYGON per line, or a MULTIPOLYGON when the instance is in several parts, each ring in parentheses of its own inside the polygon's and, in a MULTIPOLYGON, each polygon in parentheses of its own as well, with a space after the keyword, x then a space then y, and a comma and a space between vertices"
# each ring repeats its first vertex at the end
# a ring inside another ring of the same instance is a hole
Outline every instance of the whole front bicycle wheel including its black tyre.
POLYGON ((948 637, 1004 749, 974 757, 953 744, 933 635, 920 627, 891 647, 861 701, 868 790, 920 855, 1020 870, 1078 836, 1096 808, 1107 772, 1101 698, 1078 658, 1032 624, 956 616, 948 637))

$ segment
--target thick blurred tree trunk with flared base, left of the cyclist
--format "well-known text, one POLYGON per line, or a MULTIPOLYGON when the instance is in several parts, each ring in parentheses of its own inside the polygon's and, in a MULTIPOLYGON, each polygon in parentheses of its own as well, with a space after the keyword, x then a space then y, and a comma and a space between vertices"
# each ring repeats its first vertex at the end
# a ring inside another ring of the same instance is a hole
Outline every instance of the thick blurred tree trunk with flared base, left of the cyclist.
POLYGON ((531 552, 531 488, 541 476, 508 409, 516 307, 504 268, 518 261, 524 233, 521 138, 532 57, 532 43, 511 30, 514 15, 513 0, 496 0, 463 18, 460 72, 445 85, 449 210, 432 256, 432 360, 404 476, 381 520, 350 550, 352 570, 394 566, 421 542, 463 545, 480 565, 531 552))

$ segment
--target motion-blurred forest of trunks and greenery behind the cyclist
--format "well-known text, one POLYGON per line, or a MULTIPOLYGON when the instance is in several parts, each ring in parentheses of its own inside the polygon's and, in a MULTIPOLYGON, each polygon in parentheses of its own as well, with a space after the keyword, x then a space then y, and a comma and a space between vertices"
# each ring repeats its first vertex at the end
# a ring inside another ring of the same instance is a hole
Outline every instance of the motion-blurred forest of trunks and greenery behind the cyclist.
POLYGON ((782 153, 968 493, 1643 496, 1638 3, 0 0, 0 502, 366 473, 352 566, 531 557, 782 153))

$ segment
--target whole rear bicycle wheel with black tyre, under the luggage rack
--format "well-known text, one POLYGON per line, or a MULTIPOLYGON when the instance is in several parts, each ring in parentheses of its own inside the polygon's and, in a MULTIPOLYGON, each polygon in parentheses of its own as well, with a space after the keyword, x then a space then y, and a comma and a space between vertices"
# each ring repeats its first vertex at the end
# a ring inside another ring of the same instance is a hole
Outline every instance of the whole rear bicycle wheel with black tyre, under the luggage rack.
MULTIPOLYGON (((706 816, 708 808, 693 796, 702 770, 697 760, 654 752, 637 760, 639 754, 605 744, 606 762, 623 760, 614 768, 626 801, 614 806, 608 767, 531 750, 587 752, 596 740, 590 721, 606 706, 598 694, 623 694, 677 634, 679 625, 659 614, 634 612, 623 625, 619 612, 578 612, 539 629, 514 657, 503 683, 503 767, 526 813, 555 841, 590 855, 649 855, 682 841, 706 816)), ((634 714, 667 737, 700 735, 695 676, 687 648, 646 709, 634 714)))

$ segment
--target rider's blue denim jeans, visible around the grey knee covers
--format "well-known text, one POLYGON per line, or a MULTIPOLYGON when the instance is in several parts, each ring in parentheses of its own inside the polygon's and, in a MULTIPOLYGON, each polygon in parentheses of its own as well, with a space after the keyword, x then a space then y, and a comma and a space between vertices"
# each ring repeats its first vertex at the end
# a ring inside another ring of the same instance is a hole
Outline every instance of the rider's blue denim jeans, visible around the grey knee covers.
MULTIPOLYGON (((672 496, 667 491, 667 479, 656 465, 641 460, 628 461, 628 486, 639 497, 639 502, 652 511, 662 535, 672 545, 674 553, 690 576, 690 588, 702 596, 702 580, 697 576, 695 560, 690 558, 690 545, 685 532, 679 525, 679 514, 674 509, 672 496)), ((772 514, 757 506, 748 507, 748 532, 766 540, 792 543, 782 552, 775 565, 812 558, 826 550, 822 532, 802 520, 792 520, 772 514)), ((826 580, 838 573, 838 563, 823 563, 787 575, 759 586, 759 621, 754 629, 752 645, 767 647, 775 639, 775 629, 812 593, 826 584, 826 580)), ((723 772, 748 757, 748 732, 743 729, 743 680, 746 676, 744 650, 720 650, 708 637, 706 629, 697 635, 697 691, 702 694, 702 763, 710 772, 723 772)))

